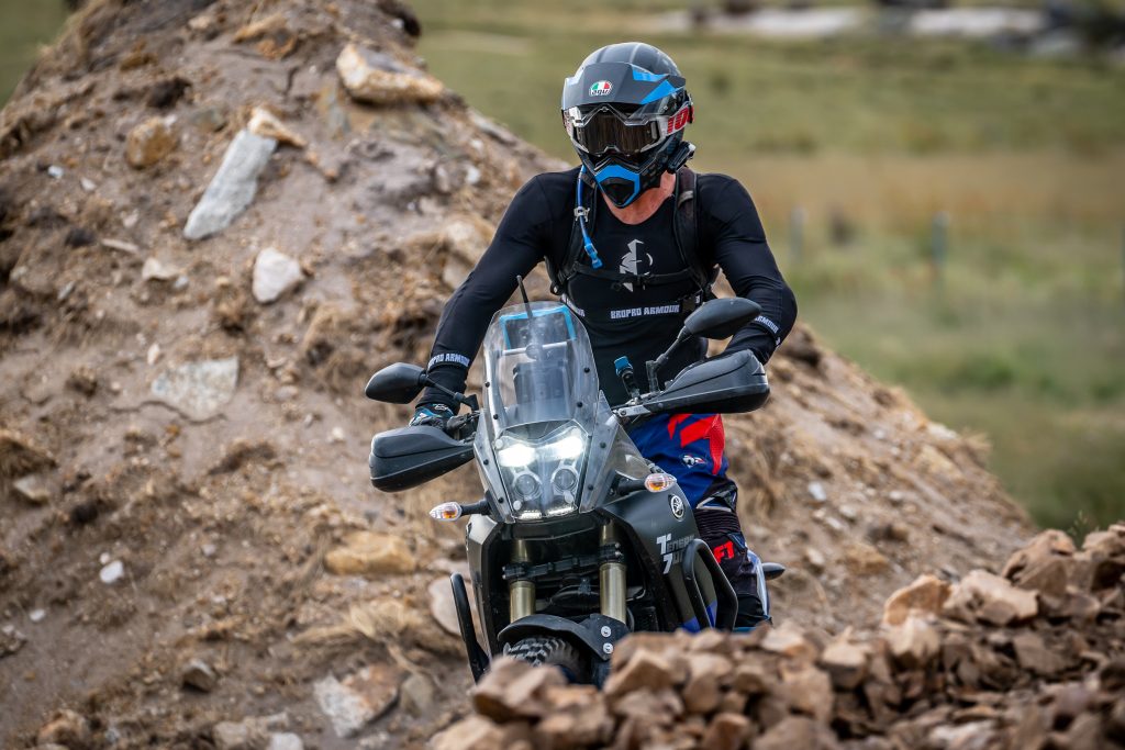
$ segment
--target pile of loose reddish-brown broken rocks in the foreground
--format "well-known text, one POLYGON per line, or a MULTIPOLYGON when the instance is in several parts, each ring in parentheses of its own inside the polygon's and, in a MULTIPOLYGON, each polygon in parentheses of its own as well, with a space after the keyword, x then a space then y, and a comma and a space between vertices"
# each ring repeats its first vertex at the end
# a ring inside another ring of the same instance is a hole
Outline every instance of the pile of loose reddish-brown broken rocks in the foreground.
POLYGON ((870 635, 634 635, 603 693, 500 659, 433 747, 1119 748, 1123 624, 1125 524, 1047 531, 1002 576, 918 578, 870 635))

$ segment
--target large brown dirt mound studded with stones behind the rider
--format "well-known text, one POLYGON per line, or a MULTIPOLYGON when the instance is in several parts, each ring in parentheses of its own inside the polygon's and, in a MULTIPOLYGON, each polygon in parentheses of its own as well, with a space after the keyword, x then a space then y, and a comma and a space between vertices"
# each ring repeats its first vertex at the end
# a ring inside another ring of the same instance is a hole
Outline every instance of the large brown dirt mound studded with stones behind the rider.
MULTIPOLYGON (((361 389, 556 165, 417 31, 395 0, 99 0, 0 115, 6 747, 394 747, 465 710, 434 585, 464 552, 425 510, 476 480, 375 493, 407 413, 361 389)), ((979 442, 809 332, 771 372, 728 435, 778 622, 828 638, 1029 535, 979 442)))

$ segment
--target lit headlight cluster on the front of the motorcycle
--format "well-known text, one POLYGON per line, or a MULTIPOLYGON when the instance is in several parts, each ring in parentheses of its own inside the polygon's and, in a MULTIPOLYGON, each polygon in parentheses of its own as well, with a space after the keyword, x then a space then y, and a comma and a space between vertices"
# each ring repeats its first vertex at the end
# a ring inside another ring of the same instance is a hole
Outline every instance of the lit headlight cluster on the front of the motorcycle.
POLYGON ((578 509, 586 442, 586 433, 576 426, 564 427, 540 442, 512 435, 496 441, 496 462, 516 518, 537 521, 578 509))

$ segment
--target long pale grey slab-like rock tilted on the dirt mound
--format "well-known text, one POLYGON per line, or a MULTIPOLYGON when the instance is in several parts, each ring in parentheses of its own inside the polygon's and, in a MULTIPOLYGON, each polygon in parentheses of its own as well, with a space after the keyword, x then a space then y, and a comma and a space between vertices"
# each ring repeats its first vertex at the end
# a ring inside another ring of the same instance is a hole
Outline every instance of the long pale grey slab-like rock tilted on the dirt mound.
POLYGON ((258 175, 278 147, 273 138, 240 130, 226 150, 223 162, 191 210, 183 226, 187 240, 202 240, 218 234, 254 201, 258 175))

